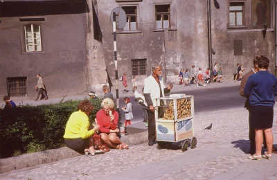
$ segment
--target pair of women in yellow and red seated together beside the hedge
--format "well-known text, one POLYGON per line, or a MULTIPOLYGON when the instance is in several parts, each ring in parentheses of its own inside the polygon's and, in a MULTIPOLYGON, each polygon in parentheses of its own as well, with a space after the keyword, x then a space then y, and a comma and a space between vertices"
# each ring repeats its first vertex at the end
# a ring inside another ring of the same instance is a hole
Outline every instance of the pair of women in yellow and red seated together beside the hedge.
POLYGON ((101 107, 96 114, 95 124, 90 127, 88 116, 94 107, 89 100, 80 102, 78 111, 73 112, 66 123, 64 143, 67 147, 87 155, 109 152, 110 148, 129 149, 117 136, 120 132, 119 115, 114 109, 114 100, 104 98, 101 107))

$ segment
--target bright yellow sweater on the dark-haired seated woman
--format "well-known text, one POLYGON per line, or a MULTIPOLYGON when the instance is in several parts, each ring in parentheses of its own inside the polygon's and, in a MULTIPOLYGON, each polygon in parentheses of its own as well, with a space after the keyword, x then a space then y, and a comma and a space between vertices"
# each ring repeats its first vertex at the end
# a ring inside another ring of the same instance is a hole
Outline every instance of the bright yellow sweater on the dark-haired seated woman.
POLYGON ((89 130, 89 117, 81 110, 73 112, 66 123, 64 138, 88 138, 94 133, 89 130))

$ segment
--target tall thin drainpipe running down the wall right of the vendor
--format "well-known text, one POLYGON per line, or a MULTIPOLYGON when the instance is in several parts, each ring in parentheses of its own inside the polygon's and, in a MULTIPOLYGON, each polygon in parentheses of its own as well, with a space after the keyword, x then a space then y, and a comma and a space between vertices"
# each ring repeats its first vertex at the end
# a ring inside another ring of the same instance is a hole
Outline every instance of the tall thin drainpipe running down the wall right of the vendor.
POLYGON ((211 0, 207 0, 208 17, 208 66, 211 69, 210 79, 213 83, 213 54, 212 54, 212 26, 211 26, 211 0))

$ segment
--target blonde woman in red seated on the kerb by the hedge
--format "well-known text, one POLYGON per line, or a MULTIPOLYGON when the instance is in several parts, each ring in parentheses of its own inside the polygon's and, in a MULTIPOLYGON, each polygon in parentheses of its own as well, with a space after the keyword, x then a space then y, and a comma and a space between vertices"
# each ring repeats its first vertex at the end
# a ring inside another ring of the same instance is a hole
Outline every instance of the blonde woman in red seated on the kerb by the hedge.
POLYGON ((118 112, 114 109, 114 101, 111 98, 105 98, 101 102, 101 107, 97 114, 96 119, 98 122, 100 136, 109 147, 118 150, 129 149, 129 146, 121 142, 116 133, 119 132, 118 125, 118 112))

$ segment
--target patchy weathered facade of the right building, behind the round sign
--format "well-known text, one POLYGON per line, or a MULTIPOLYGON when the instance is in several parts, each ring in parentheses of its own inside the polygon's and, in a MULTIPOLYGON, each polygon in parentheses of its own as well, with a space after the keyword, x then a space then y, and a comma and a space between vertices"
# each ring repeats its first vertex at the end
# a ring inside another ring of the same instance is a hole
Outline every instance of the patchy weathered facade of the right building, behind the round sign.
MULTIPOLYGON (((127 24, 118 30, 119 73, 137 75, 143 83, 153 65, 161 64, 166 82, 175 82, 180 69, 208 68, 207 1, 203 0, 103 0, 98 4, 102 46, 109 73, 114 78, 113 42, 109 16, 122 7, 127 24)), ((232 79, 237 63, 249 71, 256 55, 265 55, 275 69, 274 1, 212 1, 211 29, 215 55, 224 79, 232 79), (262 34, 267 24, 265 37, 262 34)))

